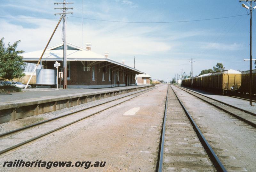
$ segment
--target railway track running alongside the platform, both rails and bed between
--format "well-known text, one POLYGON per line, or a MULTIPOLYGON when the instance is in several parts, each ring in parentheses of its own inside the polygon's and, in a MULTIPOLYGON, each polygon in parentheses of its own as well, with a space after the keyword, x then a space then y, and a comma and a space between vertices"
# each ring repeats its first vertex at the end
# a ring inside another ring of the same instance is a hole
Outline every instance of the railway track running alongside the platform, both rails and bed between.
POLYGON ((7 153, 13 149, 19 148, 20 146, 28 144, 36 139, 49 135, 55 131, 63 129, 69 125, 77 123, 85 118, 98 114, 104 110, 119 105, 125 101, 129 101, 156 88, 158 87, 142 90, 140 92, 126 95, 118 99, 107 101, 89 108, 77 110, 49 120, 45 120, 13 131, 2 133, 0 134, 0 155, 7 153))

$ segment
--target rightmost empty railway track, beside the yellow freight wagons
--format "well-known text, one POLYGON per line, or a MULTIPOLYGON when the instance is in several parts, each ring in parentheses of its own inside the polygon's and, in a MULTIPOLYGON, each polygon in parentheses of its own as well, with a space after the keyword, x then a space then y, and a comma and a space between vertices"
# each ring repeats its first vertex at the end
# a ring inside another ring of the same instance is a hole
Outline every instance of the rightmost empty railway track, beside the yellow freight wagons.
POLYGON ((225 103, 225 102, 222 102, 222 101, 219 101, 219 100, 216 100, 216 99, 213 99, 211 97, 208 97, 208 96, 205 96, 205 95, 202 95, 200 93, 196 93, 195 91, 191 91, 187 88, 183 88, 183 87, 180 87, 180 86, 176 86, 178 88, 180 88, 181 90, 215 106, 216 108, 219 108, 221 110, 223 110, 224 112, 232 115, 232 116, 235 116, 237 119, 239 120, 242 120, 244 121, 245 123, 251 125, 252 127, 256 128, 256 114, 255 113, 252 113, 252 112, 249 112, 249 111, 246 111, 244 109, 241 109, 241 108, 238 108, 238 107, 235 107, 235 106, 232 106, 228 103, 225 103))

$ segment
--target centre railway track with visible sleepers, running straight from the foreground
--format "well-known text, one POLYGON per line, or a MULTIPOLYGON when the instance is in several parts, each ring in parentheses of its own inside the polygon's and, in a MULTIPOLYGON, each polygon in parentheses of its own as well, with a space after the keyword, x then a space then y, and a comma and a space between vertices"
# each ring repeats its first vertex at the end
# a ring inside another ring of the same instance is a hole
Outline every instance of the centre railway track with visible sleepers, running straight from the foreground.
POLYGON ((171 86, 156 171, 226 171, 171 86))

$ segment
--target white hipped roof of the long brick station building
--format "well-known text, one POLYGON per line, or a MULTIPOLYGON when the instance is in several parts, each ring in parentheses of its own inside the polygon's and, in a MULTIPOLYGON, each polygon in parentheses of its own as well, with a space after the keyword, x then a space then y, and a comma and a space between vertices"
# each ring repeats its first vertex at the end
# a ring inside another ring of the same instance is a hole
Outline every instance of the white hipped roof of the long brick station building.
MULTIPOLYGON (((37 63, 44 50, 32 51, 22 53, 23 61, 28 63, 37 63)), ((42 61, 63 61, 63 43, 47 48, 42 61)), ((76 45, 67 43, 67 61, 102 61, 109 62, 119 66, 123 66, 137 73, 146 74, 145 72, 134 69, 125 64, 116 62, 108 57, 97 54, 91 50, 78 47, 76 45)))

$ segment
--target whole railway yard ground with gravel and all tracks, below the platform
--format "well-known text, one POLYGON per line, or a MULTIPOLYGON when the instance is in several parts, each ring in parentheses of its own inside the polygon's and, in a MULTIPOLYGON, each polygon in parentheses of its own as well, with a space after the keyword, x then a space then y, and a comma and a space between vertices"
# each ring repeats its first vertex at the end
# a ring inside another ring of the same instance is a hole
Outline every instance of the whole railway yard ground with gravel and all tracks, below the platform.
MULTIPOLYGON (((106 162, 86 171, 254 171, 255 112, 247 100, 160 84, 1 123, 0 160, 106 162)), ((14 170, 24 167, 1 167, 14 170)))

